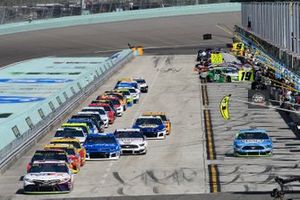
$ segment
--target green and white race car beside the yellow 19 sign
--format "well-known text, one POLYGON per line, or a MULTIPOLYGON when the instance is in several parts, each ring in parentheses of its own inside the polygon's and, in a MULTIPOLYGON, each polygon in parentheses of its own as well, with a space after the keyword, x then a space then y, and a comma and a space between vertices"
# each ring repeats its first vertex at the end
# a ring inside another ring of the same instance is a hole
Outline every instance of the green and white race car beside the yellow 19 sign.
POLYGON ((238 69, 235 67, 214 67, 207 72, 199 75, 200 79, 206 79, 208 82, 233 82, 239 80, 238 69))

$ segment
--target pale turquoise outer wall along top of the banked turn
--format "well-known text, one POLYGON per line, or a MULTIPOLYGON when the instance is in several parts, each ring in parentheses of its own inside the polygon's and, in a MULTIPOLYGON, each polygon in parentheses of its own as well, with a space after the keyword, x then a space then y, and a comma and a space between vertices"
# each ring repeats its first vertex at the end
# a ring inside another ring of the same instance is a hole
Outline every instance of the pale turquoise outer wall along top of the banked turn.
POLYGON ((178 6, 167 8, 155 8, 146 10, 131 10, 124 12, 101 13, 93 15, 70 16, 45 20, 33 20, 4 24, 0 26, 0 35, 43 30, 51 28, 62 28, 67 26, 87 25, 96 23, 119 22, 136 19, 149 19, 155 17, 170 17, 179 15, 195 15, 206 13, 220 13, 241 11, 240 3, 202 4, 193 6, 178 6))

